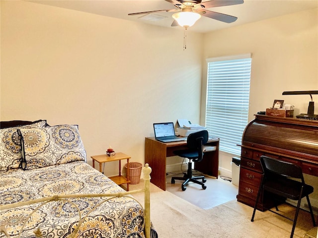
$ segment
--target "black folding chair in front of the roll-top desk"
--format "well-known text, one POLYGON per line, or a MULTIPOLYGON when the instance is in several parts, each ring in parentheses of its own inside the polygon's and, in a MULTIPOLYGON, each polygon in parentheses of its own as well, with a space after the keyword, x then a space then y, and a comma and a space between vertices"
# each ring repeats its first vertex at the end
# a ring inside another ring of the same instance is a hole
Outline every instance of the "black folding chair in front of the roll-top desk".
MULTIPOLYGON (((255 211, 260 194, 264 194, 264 192, 267 191, 272 194, 276 194, 281 198, 285 198, 284 201, 286 200, 286 198, 298 200, 294 219, 291 219, 289 217, 284 216, 283 214, 279 214, 278 212, 276 212, 278 211, 277 205, 275 205, 276 211, 268 209, 269 211, 294 222, 290 238, 293 238, 294 236, 300 203, 303 197, 307 198, 308 207, 310 210, 310 214, 312 216, 313 225, 315 227, 316 222, 314 218, 314 213, 308 196, 314 191, 314 188, 313 186, 305 183, 302 168, 298 165, 281 160, 276 160, 267 156, 261 156, 260 163, 263 169, 263 175, 257 193, 251 222, 254 221, 255 211)), ((282 202, 281 199, 280 202, 282 202)))

